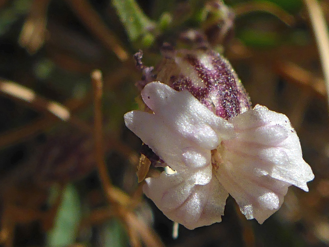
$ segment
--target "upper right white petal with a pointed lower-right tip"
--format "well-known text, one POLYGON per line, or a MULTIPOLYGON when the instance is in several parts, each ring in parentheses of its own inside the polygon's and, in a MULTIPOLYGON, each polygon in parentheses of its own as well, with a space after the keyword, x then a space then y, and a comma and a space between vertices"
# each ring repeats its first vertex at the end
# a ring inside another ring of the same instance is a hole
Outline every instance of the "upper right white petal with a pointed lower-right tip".
POLYGON ((231 159, 236 157, 236 161, 231 162, 239 162, 237 166, 245 171, 250 170, 251 165, 264 169, 272 178, 308 191, 306 183, 314 178, 314 174, 303 160, 298 136, 286 115, 256 105, 230 122, 239 132, 237 138, 224 141, 231 159))

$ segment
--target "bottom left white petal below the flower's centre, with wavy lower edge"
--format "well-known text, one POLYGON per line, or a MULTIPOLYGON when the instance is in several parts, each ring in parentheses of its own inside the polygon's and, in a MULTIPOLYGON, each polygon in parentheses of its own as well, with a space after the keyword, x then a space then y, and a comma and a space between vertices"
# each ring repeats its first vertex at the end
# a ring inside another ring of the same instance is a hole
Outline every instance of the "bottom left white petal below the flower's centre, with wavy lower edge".
POLYGON ((143 191, 169 219, 188 229, 220 222, 228 193, 216 178, 196 185, 191 177, 163 172, 158 178, 146 178, 143 191))

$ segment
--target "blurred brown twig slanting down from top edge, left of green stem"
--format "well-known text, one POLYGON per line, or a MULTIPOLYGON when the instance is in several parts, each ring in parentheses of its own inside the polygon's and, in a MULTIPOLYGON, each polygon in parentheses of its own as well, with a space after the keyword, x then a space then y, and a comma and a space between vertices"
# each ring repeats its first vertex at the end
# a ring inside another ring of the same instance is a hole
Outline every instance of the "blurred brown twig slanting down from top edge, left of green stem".
POLYGON ((125 61, 128 59, 128 53, 120 45, 115 34, 105 25, 98 13, 93 9, 91 4, 86 0, 66 0, 72 10, 78 15, 81 21, 96 35, 107 48, 114 51, 116 56, 125 61))

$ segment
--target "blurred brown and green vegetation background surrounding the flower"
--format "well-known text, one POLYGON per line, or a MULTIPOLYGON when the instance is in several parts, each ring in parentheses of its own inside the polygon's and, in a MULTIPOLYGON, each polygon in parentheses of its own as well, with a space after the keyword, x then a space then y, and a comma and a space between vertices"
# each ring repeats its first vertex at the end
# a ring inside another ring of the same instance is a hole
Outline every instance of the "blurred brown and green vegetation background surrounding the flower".
POLYGON ((308 3, 329 20, 327 0, 0 0, 1 245, 329 246, 324 54, 308 3), (310 192, 290 187, 263 225, 229 198, 221 223, 172 237, 142 195, 141 142, 123 124, 139 94, 132 55, 156 66, 164 42, 222 53, 253 104, 290 118, 310 192))

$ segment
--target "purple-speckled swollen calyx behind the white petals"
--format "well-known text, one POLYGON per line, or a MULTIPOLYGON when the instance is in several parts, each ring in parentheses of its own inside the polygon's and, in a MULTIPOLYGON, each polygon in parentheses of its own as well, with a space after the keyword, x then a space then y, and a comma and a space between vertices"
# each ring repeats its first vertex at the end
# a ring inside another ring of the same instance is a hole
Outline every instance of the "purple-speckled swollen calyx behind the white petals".
POLYGON ((224 119, 247 111, 251 102, 230 63, 205 50, 166 50, 156 80, 177 91, 188 90, 224 119))

